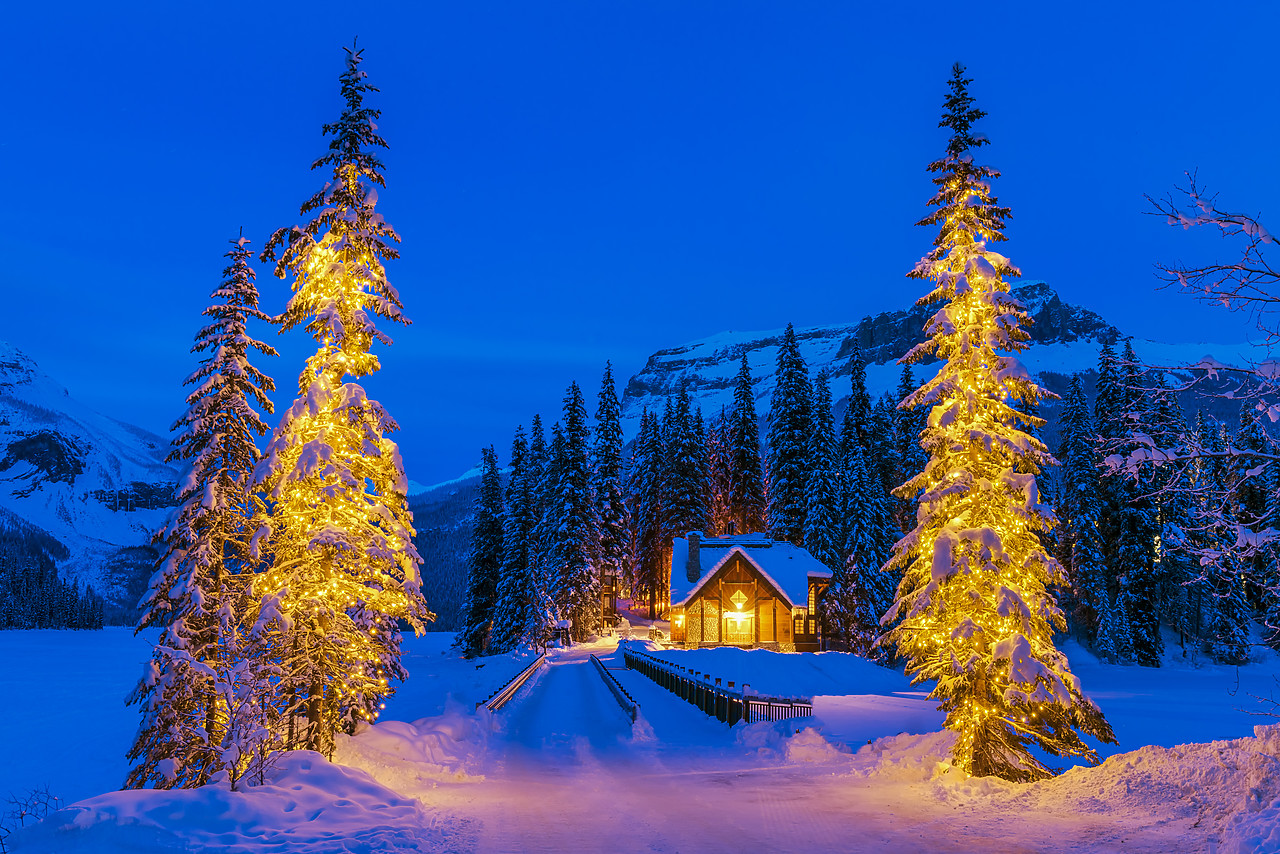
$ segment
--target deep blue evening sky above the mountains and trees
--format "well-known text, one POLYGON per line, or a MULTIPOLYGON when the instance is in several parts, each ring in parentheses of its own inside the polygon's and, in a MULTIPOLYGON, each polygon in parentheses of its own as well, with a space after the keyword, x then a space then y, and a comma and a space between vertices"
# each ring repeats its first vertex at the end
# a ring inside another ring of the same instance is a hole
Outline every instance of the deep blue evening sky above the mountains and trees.
MULTIPOLYGON (((605 359, 625 382, 662 347, 919 296, 904 273, 933 237, 913 223, 956 60, 991 114, 1005 251, 1125 332, 1247 334, 1155 289, 1157 260, 1226 247, 1143 216, 1143 193, 1198 168, 1280 219, 1275 4, 140 5, 6 9, 0 338, 165 431, 225 241, 261 247, 324 179, 307 166, 358 35, 415 321, 366 384, 422 483, 481 444, 504 457, 605 359)), ((287 286, 259 282, 282 309, 287 286)), ((287 403, 308 342, 262 334, 287 403)))

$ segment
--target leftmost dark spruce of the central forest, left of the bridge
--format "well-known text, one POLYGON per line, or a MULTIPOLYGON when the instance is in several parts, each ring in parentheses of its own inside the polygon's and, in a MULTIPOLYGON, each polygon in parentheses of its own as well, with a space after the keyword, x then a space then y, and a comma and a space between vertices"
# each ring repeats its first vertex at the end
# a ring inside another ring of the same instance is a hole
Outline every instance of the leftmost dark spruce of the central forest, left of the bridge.
POLYGON ((467 599, 458 645, 467 658, 483 656, 489 647, 489 629, 498 599, 503 539, 502 475, 493 446, 481 451, 480 492, 471 519, 471 551, 467 554, 467 599))

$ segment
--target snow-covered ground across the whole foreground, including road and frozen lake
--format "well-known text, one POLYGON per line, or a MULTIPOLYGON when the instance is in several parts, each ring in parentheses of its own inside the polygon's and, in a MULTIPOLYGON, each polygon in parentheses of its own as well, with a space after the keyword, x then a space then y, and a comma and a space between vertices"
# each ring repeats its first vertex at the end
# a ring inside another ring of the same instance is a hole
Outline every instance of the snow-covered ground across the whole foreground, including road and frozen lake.
POLYGON ((15 850, 1280 851, 1280 726, 1254 736, 1271 718, 1249 713, 1280 676, 1271 653, 1236 681, 1235 668, 1114 667, 1068 645, 1121 744, 1098 768, 1019 786, 948 769, 950 736, 919 689, 851 656, 660 652, 815 697, 814 718, 730 729, 614 670, 640 703, 631 725, 589 663, 622 668, 612 640, 553 652, 507 708, 477 714, 525 661, 465 661, 449 640, 408 641, 410 681, 334 763, 292 754, 247 793, 90 798, 123 778, 136 709, 122 698, 146 640, 0 632, 0 795, 47 782, 81 799, 15 850))

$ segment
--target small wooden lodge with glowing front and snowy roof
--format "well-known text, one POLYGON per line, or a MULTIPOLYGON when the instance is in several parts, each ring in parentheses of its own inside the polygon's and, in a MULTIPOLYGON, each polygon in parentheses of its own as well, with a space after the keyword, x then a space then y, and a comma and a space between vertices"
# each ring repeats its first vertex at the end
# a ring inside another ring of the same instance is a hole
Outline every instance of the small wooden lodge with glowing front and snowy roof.
POLYGON ((805 549, 763 534, 676 538, 671 640, 684 647, 823 648, 818 602, 831 570, 805 549))

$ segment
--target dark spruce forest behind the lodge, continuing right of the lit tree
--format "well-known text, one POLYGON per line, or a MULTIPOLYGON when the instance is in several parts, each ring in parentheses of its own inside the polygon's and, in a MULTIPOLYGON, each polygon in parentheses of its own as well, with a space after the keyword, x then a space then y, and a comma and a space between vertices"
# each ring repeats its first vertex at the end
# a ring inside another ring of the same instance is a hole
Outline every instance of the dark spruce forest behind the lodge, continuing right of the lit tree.
MULTIPOLYGON (((832 568, 827 631, 877 654, 901 580, 884 566, 915 524, 916 502, 893 493, 925 465, 925 414, 901 405, 916 388, 910 365, 874 401, 856 348, 849 367, 837 415, 827 373, 809 376, 788 326, 764 435, 744 355, 732 407, 708 417, 681 392, 643 414, 626 448, 612 370, 590 429, 571 385, 549 438, 538 416, 517 430, 506 489, 497 453, 485 449, 460 643, 471 654, 541 643, 562 618, 575 636, 596 631, 599 608, 589 603, 599 602, 599 571, 566 574, 562 562, 616 574, 657 616, 672 538, 765 533, 832 568)), ((1092 407, 1082 375, 1071 378, 1057 429, 1044 430, 1057 435, 1060 462, 1039 478, 1059 520, 1046 547, 1065 570, 1059 602, 1070 631, 1102 658, 1158 666, 1167 631, 1189 656, 1240 663, 1254 622, 1280 647, 1280 556, 1236 548, 1242 525, 1280 529, 1280 467, 1229 453, 1265 448, 1257 412, 1243 407, 1236 424, 1222 424, 1185 412, 1179 391, 1132 342, 1120 352, 1102 346, 1092 407), (1144 446, 1208 453, 1181 479, 1155 460, 1117 467, 1144 446)))

